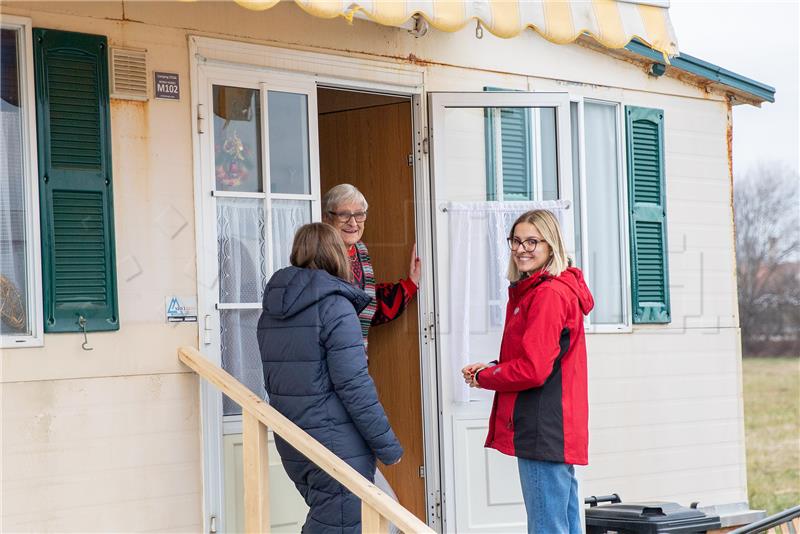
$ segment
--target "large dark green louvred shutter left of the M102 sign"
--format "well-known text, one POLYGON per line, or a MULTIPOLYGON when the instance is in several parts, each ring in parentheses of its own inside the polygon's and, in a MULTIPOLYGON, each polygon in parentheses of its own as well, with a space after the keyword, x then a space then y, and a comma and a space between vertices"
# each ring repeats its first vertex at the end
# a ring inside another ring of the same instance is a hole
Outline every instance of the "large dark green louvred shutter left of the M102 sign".
POLYGON ((33 37, 45 332, 118 330, 106 38, 33 37))

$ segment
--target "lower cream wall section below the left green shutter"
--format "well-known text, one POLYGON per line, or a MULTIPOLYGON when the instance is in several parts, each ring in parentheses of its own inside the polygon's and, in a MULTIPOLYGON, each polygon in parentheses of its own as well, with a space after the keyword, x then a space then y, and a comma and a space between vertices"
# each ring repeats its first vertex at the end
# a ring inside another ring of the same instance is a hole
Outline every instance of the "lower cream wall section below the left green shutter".
POLYGON ((5 531, 198 531, 197 379, 2 386, 5 531))

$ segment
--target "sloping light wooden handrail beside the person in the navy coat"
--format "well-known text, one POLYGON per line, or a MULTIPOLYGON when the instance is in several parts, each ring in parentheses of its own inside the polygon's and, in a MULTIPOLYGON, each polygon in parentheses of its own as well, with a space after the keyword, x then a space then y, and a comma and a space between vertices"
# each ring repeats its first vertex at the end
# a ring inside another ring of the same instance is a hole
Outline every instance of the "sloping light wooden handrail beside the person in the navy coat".
POLYGON ((239 404, 243 413, 251 413, 359 499, 388 518, 397 528, 403 532, 434 534, 434 531, 414 514, 392 500, 344 460, 247 389, 244 384, 207 360, 197 349, 181 347, 178 349, 178 357, 181 362, 239 404))

